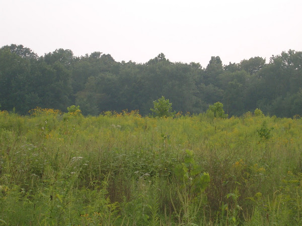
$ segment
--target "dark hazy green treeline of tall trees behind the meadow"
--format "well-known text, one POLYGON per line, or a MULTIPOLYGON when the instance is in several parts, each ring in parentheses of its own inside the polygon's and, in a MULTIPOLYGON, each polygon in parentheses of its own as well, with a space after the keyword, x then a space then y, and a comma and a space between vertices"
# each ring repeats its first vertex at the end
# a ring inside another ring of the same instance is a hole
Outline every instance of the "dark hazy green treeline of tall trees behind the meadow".
POLYGON ((222 102, 229 116, 260 108, 265 114, 292 117, 302 114, 302 52, 289 50, 222 65, 211 57, 199 63, 170 62, 163 53, 144 64, 116 62, 94 52, 77 57, 57 49, 38 56, 22 45, 0 49, 2 110, 26 115, 40 106, 66 111, 80 105, 84 115, 139 109, 150 114, 153 101, 165 96, 173 110, 198 114, 222 102))

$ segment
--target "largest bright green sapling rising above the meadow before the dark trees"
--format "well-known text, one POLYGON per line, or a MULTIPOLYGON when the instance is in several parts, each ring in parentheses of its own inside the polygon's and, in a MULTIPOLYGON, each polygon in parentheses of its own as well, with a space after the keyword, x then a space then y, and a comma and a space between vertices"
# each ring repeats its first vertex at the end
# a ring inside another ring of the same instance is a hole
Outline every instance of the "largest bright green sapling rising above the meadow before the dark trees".
POLYGON ((174 116, 175 112, 172 112, 172 103, 169 99, 162 98, 153 101, 153 108, 150 108, 155 117, 171 117, 174 116))

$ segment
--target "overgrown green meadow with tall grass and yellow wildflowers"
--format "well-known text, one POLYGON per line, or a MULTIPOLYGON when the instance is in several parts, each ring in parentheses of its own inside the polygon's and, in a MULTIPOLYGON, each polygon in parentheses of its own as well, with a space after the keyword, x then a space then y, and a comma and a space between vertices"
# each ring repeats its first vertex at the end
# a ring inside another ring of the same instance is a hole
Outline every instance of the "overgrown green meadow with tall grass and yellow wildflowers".
POLYGON ((302 119, 0 111, 0 225, 302 225, 302 119))

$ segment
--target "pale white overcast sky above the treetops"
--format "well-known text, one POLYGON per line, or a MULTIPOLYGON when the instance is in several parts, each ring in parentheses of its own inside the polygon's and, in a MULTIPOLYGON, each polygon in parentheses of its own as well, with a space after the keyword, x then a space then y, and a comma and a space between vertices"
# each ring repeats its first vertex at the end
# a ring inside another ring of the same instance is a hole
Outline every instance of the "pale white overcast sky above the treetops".
POLYGON ((302 51, 301 0, 0 0, 0 47, 223 64, 302 51))

